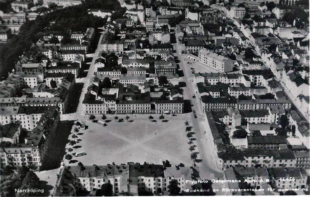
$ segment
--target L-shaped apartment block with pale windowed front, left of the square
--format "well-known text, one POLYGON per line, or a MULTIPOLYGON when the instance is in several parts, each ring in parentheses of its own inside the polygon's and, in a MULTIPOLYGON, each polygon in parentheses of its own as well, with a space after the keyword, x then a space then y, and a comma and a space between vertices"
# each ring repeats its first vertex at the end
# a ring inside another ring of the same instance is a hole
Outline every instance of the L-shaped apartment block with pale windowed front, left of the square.
POLYGON ((1 164, 13 166, 23 165, 35 167, 36 170, 48 168, 52 162, 47 156, 48 150, 55 143, 56 128, 60 123, 57 107, 50 108, 41 116, 36 128, 29 131, 24 143, 11 144, 2 142, 0 147, 1 164))

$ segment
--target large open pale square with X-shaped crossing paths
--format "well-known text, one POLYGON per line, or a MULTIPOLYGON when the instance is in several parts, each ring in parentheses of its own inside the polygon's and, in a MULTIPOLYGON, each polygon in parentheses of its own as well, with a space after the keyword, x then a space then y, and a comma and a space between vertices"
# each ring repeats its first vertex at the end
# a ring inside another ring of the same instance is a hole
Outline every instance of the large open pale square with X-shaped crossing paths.
MULTIPOLYGON (((139 163, 146 161, 149 164, 162 164, 162 161, 169 160, 172 165, 179 163, 191 165, 184 125, 185 121, 192 124, 190 115, 164 115, 168 122, 162 122, 158 114, 151 115, 157 122, 150 121, 149 116, 149 114, 107 115, 107 120, 111 120, 106 123, 107 126, 86 120, 87 129, 79 129, 78 134, 74 133, 73 129, 69 136, 71 140, 73 133, 76 134, 77 143, 73 146, 66 145, 66 148, 73 148, 72 154, 85 152, 86 155, 73 156, 71 163, 64 159, 64 163, 66 165, 77 165, 78 162, 84 165, 106 165, 113 162, 127 164, 130 161, 139 163), (124 121, 115 121, 115 116, 124 121), (125 119, 126 116, 130 117, 128 121, 125 119)), ((97 115, 96 120, 102 120, 101 116, 97 115)))

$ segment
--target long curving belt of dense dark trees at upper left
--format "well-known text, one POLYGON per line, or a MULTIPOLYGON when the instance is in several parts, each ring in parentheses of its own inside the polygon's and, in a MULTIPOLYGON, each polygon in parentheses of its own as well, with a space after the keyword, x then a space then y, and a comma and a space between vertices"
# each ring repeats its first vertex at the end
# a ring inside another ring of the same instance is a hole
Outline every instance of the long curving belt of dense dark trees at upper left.
POLYGON ((39 40, 42 31, 43 33, 51 30, 66 32, 66 30, 71 29, 72 32, 85 32, 89 27, 102 27, 106 23, 106 19, 89 15, 87 10, 91 8, 114 10, 115 12, 111 15, 112 19, 123 17, 126 11, 126 8, 122 8, 118 1, 87 0, 80 5, 55 9, 46 15, 38 16, 36 20, 27 21, 20 27, 17 36, 13 36, 7 43, 1 45, 1 75, 7 76, 8 72, 11 72, 19 56, 27 52, 33 42, 39 40), (55 23, 51 25, 50 22, 52 21, 55 23))

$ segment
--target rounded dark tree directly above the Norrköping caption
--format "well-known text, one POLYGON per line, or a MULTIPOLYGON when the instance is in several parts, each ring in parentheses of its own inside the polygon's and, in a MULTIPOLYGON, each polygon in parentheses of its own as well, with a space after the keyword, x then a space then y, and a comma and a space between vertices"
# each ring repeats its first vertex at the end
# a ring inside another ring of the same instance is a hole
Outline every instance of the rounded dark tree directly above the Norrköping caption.
POLYGON ((17 195, 18 196, 42 196, 41 192, 40 193, 27 192, 28 188, 41 188, 40 179, 33 171, 27 172, 20 186, 20 190, 25 190, 25 192, 17 193, 17 195))

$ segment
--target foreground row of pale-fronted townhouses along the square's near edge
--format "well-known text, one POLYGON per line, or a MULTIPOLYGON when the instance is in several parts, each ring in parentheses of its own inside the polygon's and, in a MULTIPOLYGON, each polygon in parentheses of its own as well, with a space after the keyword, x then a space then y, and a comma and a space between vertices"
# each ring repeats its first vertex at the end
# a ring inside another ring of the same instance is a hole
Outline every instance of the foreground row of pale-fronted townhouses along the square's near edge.
MULTIPOLYGON (((164 167, 157 164, 133 164, 128 162, 127 165, 105 165, 105 166, 65 166, 70 179, 69 188, 75 193, 75 190, 81 189, 92 191, 100 189, 104 183, 112 184, 113 194, 130 194, 138 195, 140 192, 152 192, 153 194, 168 194, 171 180, 177 180, 180 192, 191 189, 191 184, 186 180, 197 180, 199 173, 194 167, 164 167)), ((61 179, 61 177, 60 177, 61 179)), ((61 179, 62 180, 62 179, 61 179)), ((62 187, 65 182, 60 182, 62 187)), ((56 193, 67 193, 67 190, 58 190, 56 193)))

